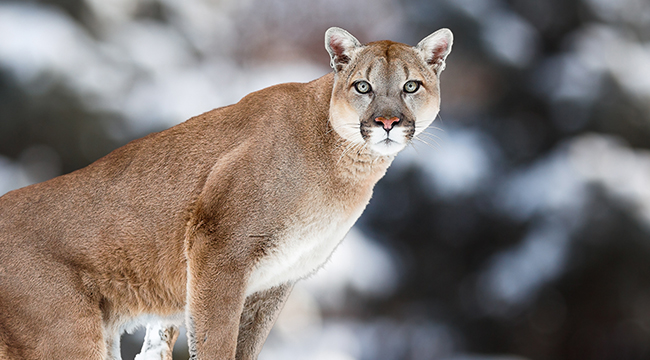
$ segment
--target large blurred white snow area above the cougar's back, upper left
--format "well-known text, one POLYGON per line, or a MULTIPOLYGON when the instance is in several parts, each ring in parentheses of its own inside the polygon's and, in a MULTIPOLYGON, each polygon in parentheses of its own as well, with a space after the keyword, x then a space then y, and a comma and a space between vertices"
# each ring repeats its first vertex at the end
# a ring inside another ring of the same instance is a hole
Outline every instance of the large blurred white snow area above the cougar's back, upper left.
POLYGON ((206 56, 197 57, 196 44, 178 28, 132 19, 132 6, 101 3, 92 6, 111 26, 96 40, 54 7, 0 4, 0 66, 32 91, 62 81, 91 109, 124 116, 133 134, 173 126, 269 85, 328 72, 302 60, 242 67, 209 49, 198 49, 206 56))

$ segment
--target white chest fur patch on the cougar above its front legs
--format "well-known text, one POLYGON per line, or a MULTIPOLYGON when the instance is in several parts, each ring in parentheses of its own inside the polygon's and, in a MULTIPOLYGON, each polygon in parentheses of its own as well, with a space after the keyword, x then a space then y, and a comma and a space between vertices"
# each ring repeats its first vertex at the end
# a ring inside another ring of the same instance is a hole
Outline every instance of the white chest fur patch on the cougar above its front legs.
POLYGON ((318 270, 361 215, 332 212, 296 221, 282 236, 273 251, 262 258, 253 271, 246 295, 304 278, 318 270))

